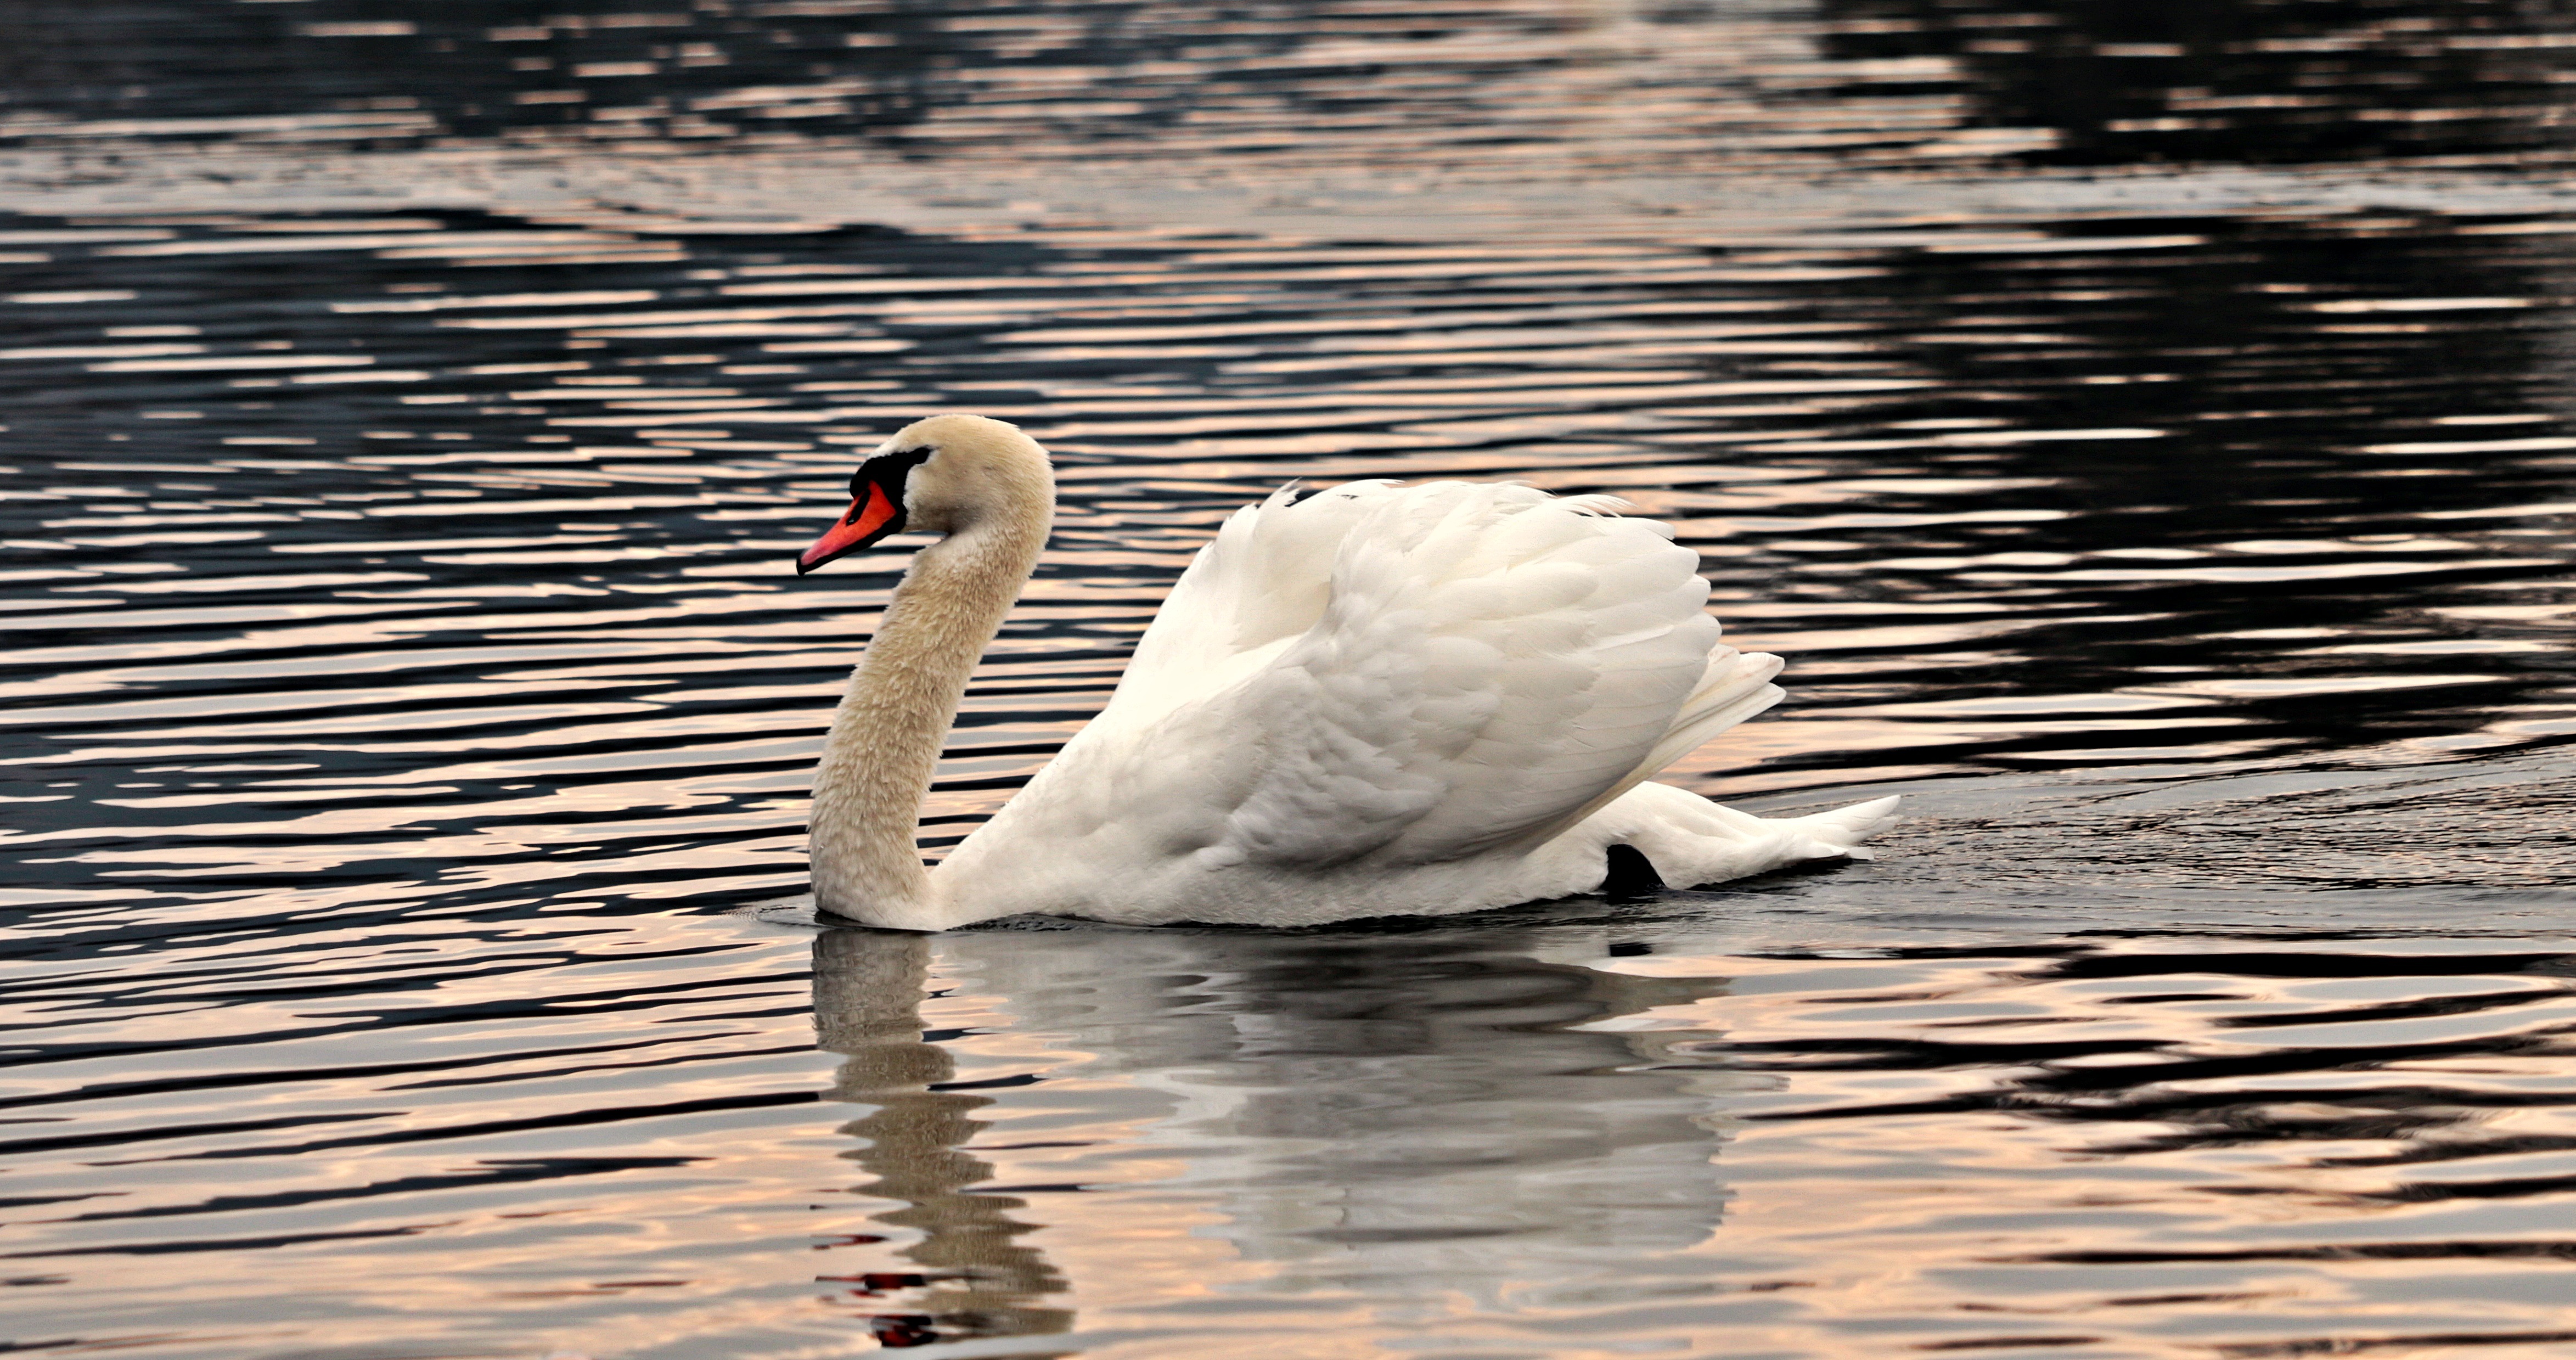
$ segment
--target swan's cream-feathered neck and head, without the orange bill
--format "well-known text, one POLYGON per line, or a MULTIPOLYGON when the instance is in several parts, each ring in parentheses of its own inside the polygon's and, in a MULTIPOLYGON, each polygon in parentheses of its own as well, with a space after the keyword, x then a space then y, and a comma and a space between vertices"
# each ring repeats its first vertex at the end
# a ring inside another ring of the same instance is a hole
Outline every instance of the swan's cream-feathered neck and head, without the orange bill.
POLYGON ((912 559, 850 675, 814 770, 811 814, 814 904, 899 930, 948 925, 914 845, 922 796, 966 677, 1036 569, 1056 510, 1046 451, 1012 425, 935 415, 876 458, 907 461, 925 448, 894 474, 902 525, 943 538, 912 559))

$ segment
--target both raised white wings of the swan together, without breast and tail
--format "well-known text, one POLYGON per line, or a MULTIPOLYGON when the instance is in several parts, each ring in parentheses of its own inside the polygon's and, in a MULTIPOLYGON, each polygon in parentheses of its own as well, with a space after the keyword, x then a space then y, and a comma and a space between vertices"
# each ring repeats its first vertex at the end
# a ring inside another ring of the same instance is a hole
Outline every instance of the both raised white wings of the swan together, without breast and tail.
POLYGON ((1597 505, 1461 482, 1273 497, 1175 587, 1103 719, 1190 744, 1182 783, 1221 804, 1211 865, 1551 835, 1777 698, 1775 659, 1718 647, 1698 554, 1597 505))

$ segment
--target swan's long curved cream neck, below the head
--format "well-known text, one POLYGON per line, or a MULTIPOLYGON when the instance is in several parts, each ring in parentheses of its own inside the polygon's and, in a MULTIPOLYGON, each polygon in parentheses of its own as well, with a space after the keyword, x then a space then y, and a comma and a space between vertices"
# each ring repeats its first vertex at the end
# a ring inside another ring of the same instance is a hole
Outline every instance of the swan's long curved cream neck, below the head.
POLYGON ((922 549, 832 713, 814 770, 814 904, 868 925, 940 930, 914 845, 966 677, 1046 546, 1051 505, 989 515, 922 549))

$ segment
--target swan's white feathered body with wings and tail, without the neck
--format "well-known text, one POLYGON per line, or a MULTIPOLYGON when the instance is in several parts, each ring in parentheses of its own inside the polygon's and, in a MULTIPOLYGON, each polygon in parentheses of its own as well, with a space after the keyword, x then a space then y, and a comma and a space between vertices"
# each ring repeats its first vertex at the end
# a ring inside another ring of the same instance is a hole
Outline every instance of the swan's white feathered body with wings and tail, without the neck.
POLYGON ((1770 708, 1698 554, 1613 497, 1355 482, 1236 510, 1110 706, 935 881, 951 912, 1301 925, 1674 886, 1852 845, 1646 783, 1770 708))

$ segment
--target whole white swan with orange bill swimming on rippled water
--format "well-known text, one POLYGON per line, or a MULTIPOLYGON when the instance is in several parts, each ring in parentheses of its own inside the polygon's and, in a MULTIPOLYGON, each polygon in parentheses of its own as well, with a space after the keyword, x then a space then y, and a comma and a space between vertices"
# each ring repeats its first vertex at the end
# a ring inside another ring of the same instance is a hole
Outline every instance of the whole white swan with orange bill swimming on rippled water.
POLYGON ((933 533, 814 770, 814 907, 889 930, 1007 914, 1319 925, 1868 858, 1896 798, 1762 819, 1646 783, 1780 701, 1718 644, 1698 554, 1615 497, 1352 482, 1236 510, 1118 690, 938 868, 917 819, 984 647, 1054 520, 1046 451, 933 415, 850 477, 811 572, 933 533))

